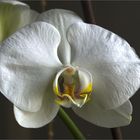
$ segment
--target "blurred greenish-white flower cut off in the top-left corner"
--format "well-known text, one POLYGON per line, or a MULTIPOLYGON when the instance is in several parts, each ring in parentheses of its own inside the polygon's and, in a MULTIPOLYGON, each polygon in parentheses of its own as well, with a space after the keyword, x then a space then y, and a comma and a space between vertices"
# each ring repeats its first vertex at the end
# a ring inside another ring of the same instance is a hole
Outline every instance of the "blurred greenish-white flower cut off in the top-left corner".
POLYGON ((38 13, 19 1, 0 0, 0 42, 17 29, 32 23, 38 13))

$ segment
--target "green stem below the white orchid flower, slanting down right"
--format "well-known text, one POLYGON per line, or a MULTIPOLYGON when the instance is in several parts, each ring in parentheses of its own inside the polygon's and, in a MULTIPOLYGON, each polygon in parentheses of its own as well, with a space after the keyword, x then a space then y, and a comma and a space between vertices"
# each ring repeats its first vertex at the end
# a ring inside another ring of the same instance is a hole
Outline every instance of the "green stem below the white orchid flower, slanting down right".
POLYGON ((58 115, 63 120, 63 122, 66 124, 67 128, 70 130, 70 132, 72 133, 72 135, 74 136, 75 139, 81 139, 81 140, 86 139, 84 137, 84 135, 81 133, 81 131, 79 130, 79 128, 72 121, 72 119, 64 111, 63 108, 60 107, 58 115))

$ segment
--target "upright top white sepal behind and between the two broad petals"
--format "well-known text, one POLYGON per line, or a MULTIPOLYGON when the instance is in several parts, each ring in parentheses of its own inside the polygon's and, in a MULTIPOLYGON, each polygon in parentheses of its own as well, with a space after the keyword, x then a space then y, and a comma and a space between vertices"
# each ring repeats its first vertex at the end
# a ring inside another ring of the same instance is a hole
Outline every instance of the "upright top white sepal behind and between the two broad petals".
POLYGON ((68 27, 78 21, 82 21, 74 12, 63 9, 52 9, 42 13, 38 20, 48 22, 54 25, 60 35, 61 43, 58 48, 58 54, 63 64, 70 64, 71 61, 71 48, 66 39, 66 31, 68 27))

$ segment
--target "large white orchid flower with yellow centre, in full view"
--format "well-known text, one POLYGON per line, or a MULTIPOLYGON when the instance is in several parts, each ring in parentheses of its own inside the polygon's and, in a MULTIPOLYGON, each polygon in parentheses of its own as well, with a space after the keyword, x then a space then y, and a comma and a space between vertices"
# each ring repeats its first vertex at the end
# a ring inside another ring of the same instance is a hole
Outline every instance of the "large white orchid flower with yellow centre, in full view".
POLYGON ((0 47, 0 90, 17 122, 44 126, 63 106, 98 126, 128 125, 129 98, 140 85, 140 61, 130 45, 71 11, 50 10, 38 20, 0 47))

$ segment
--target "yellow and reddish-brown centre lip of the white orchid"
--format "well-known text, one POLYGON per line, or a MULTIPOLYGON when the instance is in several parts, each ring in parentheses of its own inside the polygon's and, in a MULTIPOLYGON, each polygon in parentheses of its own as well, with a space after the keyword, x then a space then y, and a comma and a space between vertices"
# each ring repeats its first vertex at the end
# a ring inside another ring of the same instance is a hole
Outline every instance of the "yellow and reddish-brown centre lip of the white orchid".
POLYGON ((60 70, 53 85, 56 102, 64 107, 73 104, 82 107, 90 99, 92 88, 91 74, 85 69, 72 66, 60 70))

